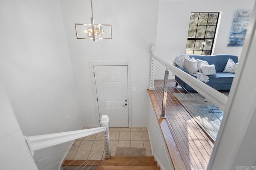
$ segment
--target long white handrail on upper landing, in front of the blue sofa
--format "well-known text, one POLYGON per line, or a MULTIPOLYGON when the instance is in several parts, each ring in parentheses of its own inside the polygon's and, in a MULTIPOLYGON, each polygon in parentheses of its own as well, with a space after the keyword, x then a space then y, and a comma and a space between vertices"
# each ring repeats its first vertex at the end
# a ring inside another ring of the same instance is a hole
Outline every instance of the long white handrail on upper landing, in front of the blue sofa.
POLYGON ((152 54, 152 58, 158 61, 163 66, 165 66, 168 70, 176 74, 176 76, 178 76, 181 80, 186 82, 186 84, 188 84, 198 93, 200 93, 202 96, 210 100, 210 102, 212 102, 214 105, 219 107, 221 110, 225 109, 226 103, 228 101, 228 96, 208 86, 204 82, 197 80, 196 78, 180 70, 176 66, 170 63, 167 63, 166 61, 160 59, 159 57, 156 57, 154 54, 152 54))

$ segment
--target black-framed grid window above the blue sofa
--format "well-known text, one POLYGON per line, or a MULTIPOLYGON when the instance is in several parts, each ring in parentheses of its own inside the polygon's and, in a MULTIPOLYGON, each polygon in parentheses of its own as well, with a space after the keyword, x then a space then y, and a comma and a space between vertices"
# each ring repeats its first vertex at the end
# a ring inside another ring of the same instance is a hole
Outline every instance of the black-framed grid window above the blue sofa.
POLYGON ((187 55, 211 55, 219 18, 215 13, 191 13, 186 45, 187 55))

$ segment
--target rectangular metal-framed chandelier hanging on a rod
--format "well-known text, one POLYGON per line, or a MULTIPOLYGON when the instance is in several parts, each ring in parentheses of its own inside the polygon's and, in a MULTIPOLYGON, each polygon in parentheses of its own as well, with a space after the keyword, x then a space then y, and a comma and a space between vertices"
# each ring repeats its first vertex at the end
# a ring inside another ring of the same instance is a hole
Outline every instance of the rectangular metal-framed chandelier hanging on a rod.
MULTIPOLYGON (((91 0, 92 9, 92 0, 91 0)), ((112 25, 96 24, 93 19, 93 10, 91 23, 75 23, 77 39, 112 39, 112 25)))

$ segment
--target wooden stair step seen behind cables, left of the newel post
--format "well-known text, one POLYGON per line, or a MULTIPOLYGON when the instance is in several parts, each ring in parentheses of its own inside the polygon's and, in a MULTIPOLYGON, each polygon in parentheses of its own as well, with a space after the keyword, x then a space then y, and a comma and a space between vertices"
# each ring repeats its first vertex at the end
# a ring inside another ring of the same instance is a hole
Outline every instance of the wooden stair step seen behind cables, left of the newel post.
POLYGON ((98 166, 102 160, 65 160, 62 166, 98 166))

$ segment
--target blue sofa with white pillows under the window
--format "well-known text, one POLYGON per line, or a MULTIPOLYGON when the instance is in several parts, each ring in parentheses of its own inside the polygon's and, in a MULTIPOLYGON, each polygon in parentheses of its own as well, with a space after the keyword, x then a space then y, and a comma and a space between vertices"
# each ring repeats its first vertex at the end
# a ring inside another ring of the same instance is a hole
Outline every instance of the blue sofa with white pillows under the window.
MULTIPOLYGON (((236 55, 188 55, 190 58, 194 57, 194 59, 200 59, 203 61, 207 61, 209 65, 214 64, 216 74, 209 75, 209 81, 206 82, 209 86, 216 90, 230 90, 232 85, 232 81, 234 78, 234 73, 222 72, 226 66, 228 59, 232 59, 235 63, 238 63, 238 57, 236 55)), ((180 68, 184 72, 188 73, 188 70, 175 65, 180 68)), ((189 74, 189 73, 188 73, 189 74)), ((195 77, 196 78, 196 77, 195 77)), ((178 76, 175 75, 176 86, 178 84, 184 88, 186 91, 194 91, 193 88, 188 86, 184 81, 182 81, 178 76)))

